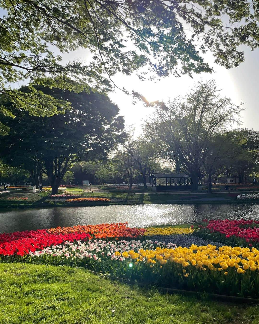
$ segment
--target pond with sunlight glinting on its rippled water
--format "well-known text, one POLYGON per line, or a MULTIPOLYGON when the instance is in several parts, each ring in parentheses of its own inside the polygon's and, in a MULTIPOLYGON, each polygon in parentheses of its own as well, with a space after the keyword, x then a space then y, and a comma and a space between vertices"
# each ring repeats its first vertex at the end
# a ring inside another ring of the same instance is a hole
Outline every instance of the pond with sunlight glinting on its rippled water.
POLYGON ((146 204, 52 207, 0 211, 0 233, 57 226, 128 222, 129 226, 197 223, 208 219, 259 220, 259 204, 146 204))

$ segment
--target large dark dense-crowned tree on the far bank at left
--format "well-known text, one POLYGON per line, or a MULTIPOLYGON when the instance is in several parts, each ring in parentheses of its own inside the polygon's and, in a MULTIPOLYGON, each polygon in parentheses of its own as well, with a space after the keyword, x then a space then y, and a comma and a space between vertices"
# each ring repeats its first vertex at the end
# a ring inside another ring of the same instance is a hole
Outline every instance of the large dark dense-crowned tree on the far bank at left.
POLYGON ((3 155, 9 152, 24 155, 48 175, 52 194, 58 192, 70 166, 90 157, 106 156, 124 139, 124 121, 118 107, 104 95, 90 92, 74 93, 67 90, 43 88, 55 98, 69 100, 71 109, 63 115, 34 117, 16 110, 16 121, 6 118, 11 132, 1 136, 3 155), (18 123, 17 123, 18 121, 18 123))

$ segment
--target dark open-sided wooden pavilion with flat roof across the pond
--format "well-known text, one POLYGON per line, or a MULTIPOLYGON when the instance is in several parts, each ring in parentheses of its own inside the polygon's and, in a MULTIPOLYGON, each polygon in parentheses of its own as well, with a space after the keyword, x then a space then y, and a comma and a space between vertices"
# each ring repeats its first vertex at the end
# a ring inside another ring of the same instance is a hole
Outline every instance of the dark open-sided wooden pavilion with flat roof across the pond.
POLYGON ((153 173, 151 175, 152 191, 191 190, 192 178, 184 173, 153 173), (165 179, 165 184, 157 186, 157 179, 165 179))

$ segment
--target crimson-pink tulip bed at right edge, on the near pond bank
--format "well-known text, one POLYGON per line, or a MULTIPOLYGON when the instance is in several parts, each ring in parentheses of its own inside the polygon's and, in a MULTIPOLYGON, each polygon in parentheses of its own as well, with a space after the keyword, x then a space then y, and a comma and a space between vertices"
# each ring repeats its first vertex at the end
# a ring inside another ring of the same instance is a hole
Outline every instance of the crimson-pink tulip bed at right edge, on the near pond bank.
POLYGON ((259 221, 204 219, 194 231, 194 235, 232 246, 259 248, 259 221))

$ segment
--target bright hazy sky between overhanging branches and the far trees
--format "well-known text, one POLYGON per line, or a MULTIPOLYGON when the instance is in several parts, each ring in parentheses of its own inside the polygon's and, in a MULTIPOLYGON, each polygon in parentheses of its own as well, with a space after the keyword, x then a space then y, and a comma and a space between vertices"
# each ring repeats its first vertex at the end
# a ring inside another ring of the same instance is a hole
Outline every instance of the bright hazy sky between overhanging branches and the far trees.
MULTIPOLYGON (((258 85, 259 85, 259 49, 253 52, 243 46, 242 50, 245 53, 245 61, 237 68, 226 69, 214 63, 214 57, 211 53, 207 53, 205 61, 213 67, 213 73, 193 74, 193 78, 188 75, 181 77, 168 76, 160 81, 140 81, 139 78, 132 74, 124 76, 117 74, 112 77, 112 80, 119 87, 125 87, 129 92, 132 90, 138 91, 148 101, 155 100, 167 101, 179 95, 185 95, 192 88, 193 84, 201 79, 204 81, 213 78, 222 96, 230 97, 232 102, 246 108, 242 111, 242 125, 259 131, 259 113, 258 113, 258 85)), ((77 59, 84 61, 87 57, 85 50, 78 50, 73 53, 63 54, 63 62, 77 59)), ((135 127, 135 136, 141 134, 141 124, 147 119, 148 115, 152 114, 152 108, 146 107, 142 102, 137 104, 132 103, 132 97, 124 94, 121 90, 116 89, 109 93, 110 99, 120 108, 120 115, 124 116, 125 125, 127 127, 135 127)), ((237 125, 235 125, 237 127, 237 125)))

